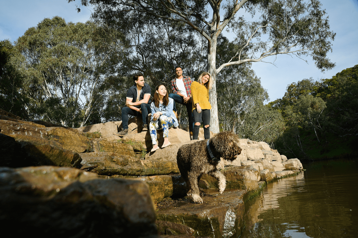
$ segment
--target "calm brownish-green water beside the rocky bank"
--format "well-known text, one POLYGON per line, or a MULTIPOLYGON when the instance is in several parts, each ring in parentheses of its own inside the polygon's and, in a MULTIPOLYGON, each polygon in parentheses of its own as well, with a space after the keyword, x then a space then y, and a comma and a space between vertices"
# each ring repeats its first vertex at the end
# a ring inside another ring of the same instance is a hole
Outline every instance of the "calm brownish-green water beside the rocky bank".
POLYGON ((303 164, 246 203, 240 238, 358 237, 358 160, 303 164))

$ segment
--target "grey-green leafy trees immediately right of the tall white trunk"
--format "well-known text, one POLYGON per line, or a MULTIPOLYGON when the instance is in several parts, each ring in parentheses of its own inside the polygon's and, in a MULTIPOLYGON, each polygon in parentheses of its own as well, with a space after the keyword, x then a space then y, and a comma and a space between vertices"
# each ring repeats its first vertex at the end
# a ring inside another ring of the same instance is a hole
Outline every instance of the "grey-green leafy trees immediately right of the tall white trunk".
POLYGON ((269 95, 248 65, 223 70, 217 85, 221 130, 271 145, 282 134, 281 113, 263 105, 269 95))

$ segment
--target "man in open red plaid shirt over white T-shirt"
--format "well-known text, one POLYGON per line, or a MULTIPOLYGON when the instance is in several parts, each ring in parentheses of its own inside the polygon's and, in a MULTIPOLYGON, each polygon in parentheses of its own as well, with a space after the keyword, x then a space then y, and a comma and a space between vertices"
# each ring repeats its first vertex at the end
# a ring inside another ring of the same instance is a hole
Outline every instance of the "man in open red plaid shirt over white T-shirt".
MULTIPOLYGON (((173 93, 169 94, 169 98, 173 98, 174 101, 185 105, 188 111, 189 119, 189 133, 190 139, 193 139, 193 127, 194 127, 194 115, 192 112, 192 91, 190 86, 193 83, 193 80, 189 76, 183 76, 182 67, 178 66, 175 68, 176 78, 171 80, 171 90, 173 93)), ((173 110, 176 113, 176 106, 174 103, 173 110)))

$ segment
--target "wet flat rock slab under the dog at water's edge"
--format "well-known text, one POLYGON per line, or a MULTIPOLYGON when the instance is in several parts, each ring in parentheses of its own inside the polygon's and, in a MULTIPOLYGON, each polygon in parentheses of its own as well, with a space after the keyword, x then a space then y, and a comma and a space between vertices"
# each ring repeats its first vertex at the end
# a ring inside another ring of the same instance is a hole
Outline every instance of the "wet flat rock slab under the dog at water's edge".
POLYGON ((183 200, 160 208, 157 220, 178 223, 194 229, 195 237, 238 237, 244 226, 244 190, 204 190, 204 203, 183 200))

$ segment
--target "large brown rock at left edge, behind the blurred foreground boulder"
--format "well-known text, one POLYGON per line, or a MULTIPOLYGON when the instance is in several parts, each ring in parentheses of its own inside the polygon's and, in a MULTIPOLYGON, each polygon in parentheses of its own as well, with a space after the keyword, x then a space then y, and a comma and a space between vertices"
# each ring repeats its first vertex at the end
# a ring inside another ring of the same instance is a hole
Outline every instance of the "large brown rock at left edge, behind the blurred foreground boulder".
MULTIPOLYGON (((17 149, 13 157, 14 163, 8 166, 56 165, 78 168, 81 166, 78 153, 91 148, 89 139, 77 130, 45 127, 34 122, 4 117, 0 120, 1 133, 14 138, 21 148, 17 149)), ((9 140, 6 137, 2 139, 9 140)))

